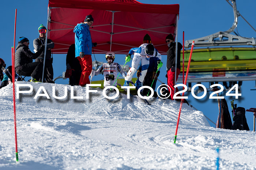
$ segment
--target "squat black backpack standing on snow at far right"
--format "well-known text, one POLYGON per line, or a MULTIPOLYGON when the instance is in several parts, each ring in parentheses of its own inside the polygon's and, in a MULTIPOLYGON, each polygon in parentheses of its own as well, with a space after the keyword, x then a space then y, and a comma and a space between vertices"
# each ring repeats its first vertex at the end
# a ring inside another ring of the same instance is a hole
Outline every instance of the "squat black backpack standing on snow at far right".
POLYGON ((233 130, 250 130, 245 118, 245 108, 237 107, 235 116, 234 116, 234 124, 233 130))

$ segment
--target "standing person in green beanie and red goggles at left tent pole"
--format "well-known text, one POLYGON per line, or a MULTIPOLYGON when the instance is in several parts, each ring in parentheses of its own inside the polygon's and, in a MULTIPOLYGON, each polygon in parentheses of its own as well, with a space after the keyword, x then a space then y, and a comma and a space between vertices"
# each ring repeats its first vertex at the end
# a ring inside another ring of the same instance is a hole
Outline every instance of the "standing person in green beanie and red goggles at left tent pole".
MULTIPOLYGON (((33 41, 33 46, 34 46, 34 51, 38 51, 41 45, 45 46, 45 41, 46 41, 46 27, 41 24, 38 27, 38 33, 39 37, 34 39, 33 41)), ((46 82, 46 83, 54 83, 53 82, 53 58, 52 58, 52 51, 51 49, 54 48, 54 43, 52 40, 47 39, 47 46, 46 46, 46 55, 44 51, 41 53, 41 55, 35 59, 36 62, 41 62, 44 63, 44 56, 45 56, 45 69, 44 69, 44 80, 42 80, 42 77, 40 77, 39 81, 40 82, 46 82)))

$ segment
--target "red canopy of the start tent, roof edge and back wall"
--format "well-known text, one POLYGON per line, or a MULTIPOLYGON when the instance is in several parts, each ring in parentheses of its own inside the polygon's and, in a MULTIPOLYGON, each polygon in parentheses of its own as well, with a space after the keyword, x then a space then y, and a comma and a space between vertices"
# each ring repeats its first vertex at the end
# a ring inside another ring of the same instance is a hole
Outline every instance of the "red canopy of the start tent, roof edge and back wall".
POLYGON ((175 34, 179 4, 142 4, 135 0, 49 0, 49 38, 55 43, 53 53, 67 53, 75 43, 74 27, 87 15, 94 18, 91 37, 97 42, 95 54, 113 51, 127 54, 150 35, 155 48, 166 54, 165 37, 175 34), (113 22, 112 22, 113 21, 113 22))

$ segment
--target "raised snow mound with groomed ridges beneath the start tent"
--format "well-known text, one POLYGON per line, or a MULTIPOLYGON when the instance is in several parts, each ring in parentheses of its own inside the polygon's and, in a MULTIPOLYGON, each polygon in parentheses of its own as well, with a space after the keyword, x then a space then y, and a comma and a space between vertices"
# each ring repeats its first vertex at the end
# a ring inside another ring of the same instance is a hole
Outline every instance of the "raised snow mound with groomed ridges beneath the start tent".
MULTIPOLYGON (((163 100, 151 98, 148 101, 152 105, 146 105, 137 98, 127 99, 127 95, 122 93, 115 99, 107 99, 102 94, 100 88, 90 88, 90 90, 97 90, 97 92, 90 92, 89 99, 86 99, 86 88, 74 86, 74 95, 81 96, 83 99, 71 99, 71 86, 64 84, 49 84, 49 83, 31 83, 31 82, 16 82, 18 85, 31 85, 33 91, 31 93, 19 94, 19 99, 16 103, 28 104, 36 106, 37 108, 48 108, 54 110, 61 110, 66 112, 77 112, 84 115, 97 115, 103 117, 111 117, 113 119, 143 119, 148 121, 162 121, 169 123, 177 122, 177 115, 180 102, 172 100, 163 100), (49 95, 34 97, 37 93, 45 93, 49 95), (53 97, 53 87, 55 87, 56 96, 65 96, 65 87, 67 88, 67 97, 64 99, 56 99, 53 97)), ((15 87, 15 88, 16 88, 15 87)), ((29 91, 30 87, 19 87, 20 91, 29 91)), ((106 93, 108 96, 113 96, 116 93, 106 93)), ((16 96, 17 98, 17 96, 16 96)), ((0 90, 0 99, 12 101, 12 84, 0 90)), ((195 111, 187 104, 183 104, 181 111, 180 123, 197 124, 210 126, 200 111, 195 111)))

